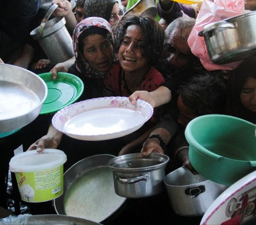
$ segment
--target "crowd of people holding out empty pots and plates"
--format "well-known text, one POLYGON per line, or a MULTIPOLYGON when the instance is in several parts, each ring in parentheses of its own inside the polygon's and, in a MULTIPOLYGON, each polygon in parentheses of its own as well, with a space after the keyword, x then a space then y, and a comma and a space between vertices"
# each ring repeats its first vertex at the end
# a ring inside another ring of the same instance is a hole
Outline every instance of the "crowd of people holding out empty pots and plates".
MULTIPOLYGON (((185 165, 197 174, 189 162, 185 138, 191 120, 205 114, 227 114, 256 123, 256 56, 244 59, 234 70, 207 71, 190 50, 187 40, 202 3, 155 1, 153 18, 125 15, 138 1, 121 2, 123 7, 117 0, 77 0, 74 7, 68 0, 0 1, 0 63, 37 74, 52 72, 53 79, 58 72, 75 74, 84 83, 77 102, 126 96, 132 104, 142 99, 154 107, 152 118, 138 131, 104 141, 70 138, 52 126, 53 114, 39 115, 17 133, 0 138, 0 163, 5 168, 0 175, 1 194, 6 193, 13 150, 20 145, 24 151, 61 149, 68 159, 65 170, 93 154, 141 152, 147 156, 157 152, 170 157, 166 173, 185 165), (52 4, 58 4, 53 16, 65 17, 74 47, 73 57, 55 65, 29 35, 52 4)), ((256 1, 245 1, 246 10, 255 8, 256 1)), ((1 206, 6 207, 6 198, 1 198, 1 206)), ((30 205, 31 212, 33 207, 35 214, 38 209, 43 212, 35 204, 30 205)))

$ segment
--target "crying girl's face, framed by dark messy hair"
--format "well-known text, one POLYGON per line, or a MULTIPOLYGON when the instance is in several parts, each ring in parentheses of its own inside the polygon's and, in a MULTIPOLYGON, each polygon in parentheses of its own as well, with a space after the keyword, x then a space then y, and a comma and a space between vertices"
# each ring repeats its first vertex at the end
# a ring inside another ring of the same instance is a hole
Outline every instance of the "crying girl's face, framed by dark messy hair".
POLYGON ((135 71, 147 68, 148 61, 143 56, 143 49, 140 43, 143 41, 143 34, 139 26, 127 27, 124 39, 118 51, 118 58, 125 71, 135 71))

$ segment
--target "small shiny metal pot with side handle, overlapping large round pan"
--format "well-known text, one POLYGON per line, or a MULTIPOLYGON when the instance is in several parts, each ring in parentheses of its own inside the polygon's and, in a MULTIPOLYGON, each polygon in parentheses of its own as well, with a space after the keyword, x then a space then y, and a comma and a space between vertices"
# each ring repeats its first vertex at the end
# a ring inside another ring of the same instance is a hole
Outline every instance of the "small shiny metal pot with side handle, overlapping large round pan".
POLYGON ((115 193, 127 198, 140 198, 164 191, 163 179, 167 155, 141 153, 121 155, 110 159, 107 165, 113 170, 115 193))

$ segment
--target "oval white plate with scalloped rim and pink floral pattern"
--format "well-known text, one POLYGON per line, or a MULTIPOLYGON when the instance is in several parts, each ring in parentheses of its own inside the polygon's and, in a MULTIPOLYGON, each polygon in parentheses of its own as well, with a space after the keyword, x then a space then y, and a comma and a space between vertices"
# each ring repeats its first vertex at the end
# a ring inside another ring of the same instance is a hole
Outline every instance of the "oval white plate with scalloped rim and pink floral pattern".
POLYGON ((71 104, 55 113, 53 126, 79 140, 107 140, 129 135, 153 115, 153 107, 140 99, 101 97, 71 104))

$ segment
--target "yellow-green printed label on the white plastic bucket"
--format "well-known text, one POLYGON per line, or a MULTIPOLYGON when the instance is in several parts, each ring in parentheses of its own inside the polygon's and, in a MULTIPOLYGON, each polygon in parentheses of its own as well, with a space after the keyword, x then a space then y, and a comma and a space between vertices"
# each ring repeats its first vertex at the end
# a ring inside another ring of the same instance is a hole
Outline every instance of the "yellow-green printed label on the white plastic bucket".
POLYGON ((25 202, 46 202, 63 193, 63 165, 44 171, 15 173, 15 177, 25 202))

